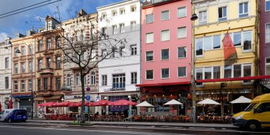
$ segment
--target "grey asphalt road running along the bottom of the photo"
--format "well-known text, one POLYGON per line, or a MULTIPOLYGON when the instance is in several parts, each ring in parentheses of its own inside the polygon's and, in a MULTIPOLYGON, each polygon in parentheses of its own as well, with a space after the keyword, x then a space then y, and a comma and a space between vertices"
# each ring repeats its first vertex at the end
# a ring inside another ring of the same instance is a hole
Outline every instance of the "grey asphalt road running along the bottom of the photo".
POLYGON ((37 123, 0 123, 0 135, 234 135, 234 134, 270 134, 269 131, 248 132, 232 129, 213 128, 183 128, 171 126, 121 126, 121 125, 66 125, 66 124, 37 124, 37 123))

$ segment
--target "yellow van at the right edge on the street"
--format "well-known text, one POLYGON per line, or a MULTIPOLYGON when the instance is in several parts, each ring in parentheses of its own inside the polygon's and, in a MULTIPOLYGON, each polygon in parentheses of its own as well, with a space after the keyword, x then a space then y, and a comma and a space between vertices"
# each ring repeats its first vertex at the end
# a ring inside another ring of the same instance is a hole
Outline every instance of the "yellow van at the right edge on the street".
POLYGON ((270 93, 255 97, 244 112, 234 114, 232 124, 249 131, 270 127, 270 93))

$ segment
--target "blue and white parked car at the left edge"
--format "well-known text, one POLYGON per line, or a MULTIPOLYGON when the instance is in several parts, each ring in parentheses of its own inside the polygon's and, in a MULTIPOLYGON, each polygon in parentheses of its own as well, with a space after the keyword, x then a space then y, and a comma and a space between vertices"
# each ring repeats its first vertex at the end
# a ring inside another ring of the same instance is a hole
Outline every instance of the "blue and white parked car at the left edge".
POLYGON ((0 121, 26 121, 27 112, 25 109, 4 109, 0 113, 0 121))

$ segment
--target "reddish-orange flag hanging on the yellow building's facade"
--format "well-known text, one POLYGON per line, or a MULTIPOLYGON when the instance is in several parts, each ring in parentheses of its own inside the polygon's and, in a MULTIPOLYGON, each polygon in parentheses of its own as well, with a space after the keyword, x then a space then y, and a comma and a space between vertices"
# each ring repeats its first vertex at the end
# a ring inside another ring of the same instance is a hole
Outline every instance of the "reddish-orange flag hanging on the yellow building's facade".
POLYGON ((231 37, 229 36, 229 33, 226 33, 222 43, 224 48, 225 65, 232 65, 233 63, 236 63, 237 51, 234 47, 234 43, 232 42, 231 37))

